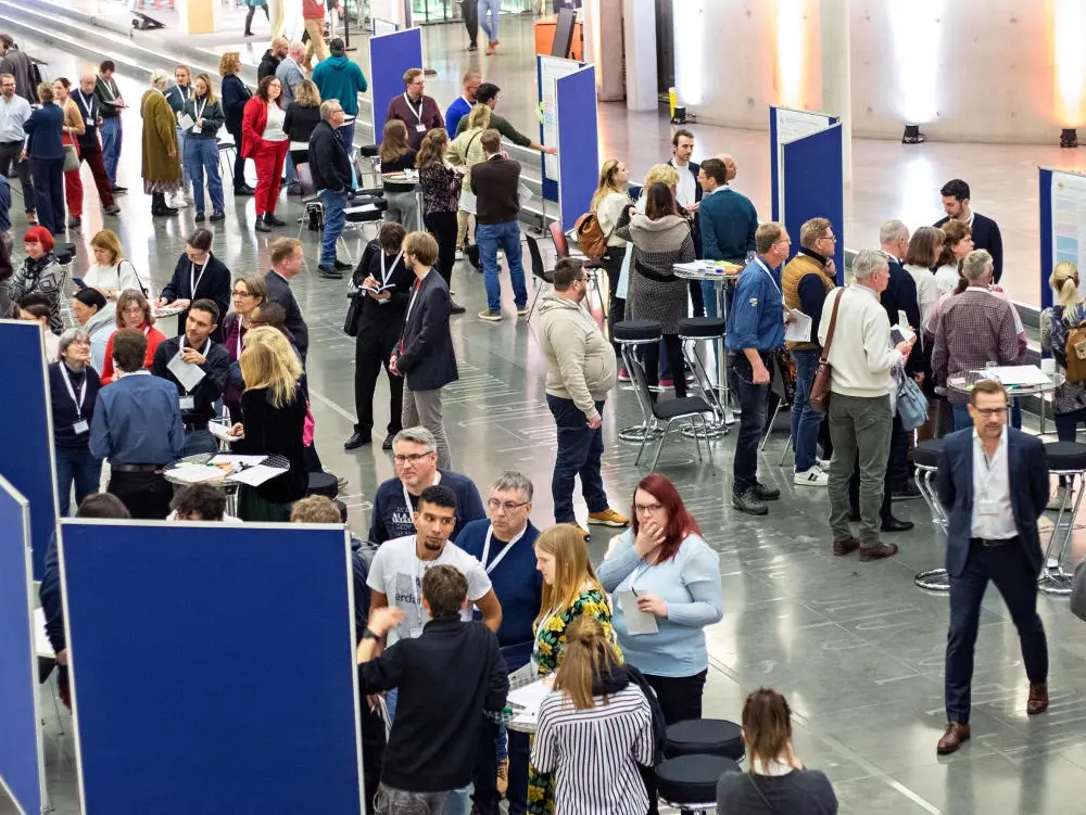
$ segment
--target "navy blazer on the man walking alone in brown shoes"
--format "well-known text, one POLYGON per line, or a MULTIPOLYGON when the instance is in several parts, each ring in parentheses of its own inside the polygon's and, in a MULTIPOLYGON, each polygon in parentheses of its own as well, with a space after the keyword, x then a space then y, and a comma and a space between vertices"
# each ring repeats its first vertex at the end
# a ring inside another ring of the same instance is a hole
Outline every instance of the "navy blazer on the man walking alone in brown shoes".
MULTIPOLYGON (((973 429, 959 430, 943 438, 936 487, 939 500, 950 513, 947 531, 947 571, 958 577, 965 570, 969 538, 973 527, 973 429)), ((1048 504, 1048 456, 1036 436, 1007 429, 1011 511, 1034 572, 1040 573, 1045 556, 1040 548, 1037 519, 1048 504)))

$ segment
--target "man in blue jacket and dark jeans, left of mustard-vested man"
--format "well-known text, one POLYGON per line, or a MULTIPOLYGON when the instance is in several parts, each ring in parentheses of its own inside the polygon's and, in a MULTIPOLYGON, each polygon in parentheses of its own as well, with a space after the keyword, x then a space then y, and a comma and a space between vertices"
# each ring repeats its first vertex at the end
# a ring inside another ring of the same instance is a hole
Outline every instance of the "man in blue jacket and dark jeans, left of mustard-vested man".
POLYGON ((769 508, 765 501, 781 497, 780 489, 758 483, 758 442, 766 426, 770 355, 784 344, 784 296, 778 276, 791 245, 782 224, 770 221, 758 227, 758 256, 740 273, 729 315, 731 324, 724 336, 728 381, 738 394, 741 411, 732 466, 732 506, 753 515, 766 514, 769 508))

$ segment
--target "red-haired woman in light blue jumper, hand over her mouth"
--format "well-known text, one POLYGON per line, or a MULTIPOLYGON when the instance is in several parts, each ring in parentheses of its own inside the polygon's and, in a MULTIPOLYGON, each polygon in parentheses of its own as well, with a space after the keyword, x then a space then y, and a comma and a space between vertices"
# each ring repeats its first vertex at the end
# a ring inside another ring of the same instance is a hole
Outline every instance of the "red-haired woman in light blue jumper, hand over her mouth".
POLYGON ((637 484, 631 515, 630 529, 596 569, 614 595, 619 647, 645 674, 669 725, 700 718, 709 667, 703 628, 723 615, 720 559, 674 484, 659 473, 637 484), (632 633, 648 622, 656 633, 632 633))

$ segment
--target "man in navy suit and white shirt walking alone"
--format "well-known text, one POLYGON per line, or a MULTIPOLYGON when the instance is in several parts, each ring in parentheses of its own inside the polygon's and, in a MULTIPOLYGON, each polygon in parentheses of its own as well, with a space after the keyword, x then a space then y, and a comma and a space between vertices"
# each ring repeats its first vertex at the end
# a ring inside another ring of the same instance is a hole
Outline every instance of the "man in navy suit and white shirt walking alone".
POLYGON ((988 581, 1018 628, 1030 678, 1025 711, 1035 715, 1048 708, 1048 644, 1037 615, 1044 563, 1037 519, 1048 504, 1048 459, 1038 438, 1007 426, 1007 392, 998 382, 973 385, 969 413, 973 426, 943 440, 937 477, 939 500, 950 517, 947 727, 936 747, 940 755, 970 737, 973 648, 988 581))

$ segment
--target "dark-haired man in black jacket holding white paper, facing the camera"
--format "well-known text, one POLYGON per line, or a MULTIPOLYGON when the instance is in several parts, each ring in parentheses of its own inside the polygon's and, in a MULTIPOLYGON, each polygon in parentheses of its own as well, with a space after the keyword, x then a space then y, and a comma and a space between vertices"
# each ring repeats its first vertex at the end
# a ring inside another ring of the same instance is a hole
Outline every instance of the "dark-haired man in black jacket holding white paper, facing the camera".
POLYGON ((215 418, 214 403, 223 396, 230 355, 211 339, 217 323, 218 306, 210 300, 198 300, 189 307, 185 333, 162 343, 151 362, 151 373, 177 387, 185 421, 184 456, 218 449, 207 422, 215 418))

